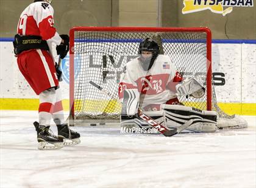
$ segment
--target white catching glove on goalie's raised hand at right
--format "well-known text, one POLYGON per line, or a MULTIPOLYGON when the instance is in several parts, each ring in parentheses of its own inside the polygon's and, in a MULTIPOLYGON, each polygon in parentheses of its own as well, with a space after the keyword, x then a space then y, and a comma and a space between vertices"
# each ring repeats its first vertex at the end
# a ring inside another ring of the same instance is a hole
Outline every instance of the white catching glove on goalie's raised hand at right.
POLYGON ((204 96, 205 88, 201 82, 195 78, 190 78, 183 81, 176 86, 177 95, 193 96, 194 98, 201 98, 204 96))

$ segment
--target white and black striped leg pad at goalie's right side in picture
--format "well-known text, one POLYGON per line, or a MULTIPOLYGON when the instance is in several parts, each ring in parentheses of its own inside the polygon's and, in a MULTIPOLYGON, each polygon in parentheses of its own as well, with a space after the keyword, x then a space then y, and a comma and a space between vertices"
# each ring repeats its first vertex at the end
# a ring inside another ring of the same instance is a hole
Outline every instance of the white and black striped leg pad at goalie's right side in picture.
POLYGON ((214 111, 199 110, 193 107, 163 104, 167 127, 179 127, 192 119, 193 124, 186 130, 192 132, 215 132, 217 130, 214 111))

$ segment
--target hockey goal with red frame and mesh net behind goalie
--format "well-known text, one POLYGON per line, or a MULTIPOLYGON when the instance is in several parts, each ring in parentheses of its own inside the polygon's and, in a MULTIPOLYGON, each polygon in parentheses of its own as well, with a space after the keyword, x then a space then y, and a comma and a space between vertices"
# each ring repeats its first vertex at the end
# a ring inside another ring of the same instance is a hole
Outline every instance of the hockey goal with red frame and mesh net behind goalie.
MULTIPOLYGON (((72 119, 119 119, 119 76, 130 59, 138 56, 138 45, 152 38, 160 53, 170 56, 184 78, 196 77, 206 95, 196 99, 179 96, 185 106, 215 110, 212 100, 212 34, 210 29, 163 27, 74 27, 69 32, 69 107, 72 119), (89 84, 96 82, 113 97, 89 84)), ((90 120, 89 120, 90 119, 90 120)), ((97 122, 97 121, 96 121, 97 122)))

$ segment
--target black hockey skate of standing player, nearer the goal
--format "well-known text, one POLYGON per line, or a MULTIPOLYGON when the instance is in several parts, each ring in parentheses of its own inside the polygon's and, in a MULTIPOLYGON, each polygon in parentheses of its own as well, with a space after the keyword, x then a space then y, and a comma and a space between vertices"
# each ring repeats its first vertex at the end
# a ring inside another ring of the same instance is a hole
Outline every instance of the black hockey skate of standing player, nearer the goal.
POLYGON ((69 129, 68 124, 60 124, 59 119, 54 119, 55 124, 58 129, 58 136, 63 138, 64 145, 76 145, 80 143, 80 134, 78 132, 74 132, 74 130, 69 129))

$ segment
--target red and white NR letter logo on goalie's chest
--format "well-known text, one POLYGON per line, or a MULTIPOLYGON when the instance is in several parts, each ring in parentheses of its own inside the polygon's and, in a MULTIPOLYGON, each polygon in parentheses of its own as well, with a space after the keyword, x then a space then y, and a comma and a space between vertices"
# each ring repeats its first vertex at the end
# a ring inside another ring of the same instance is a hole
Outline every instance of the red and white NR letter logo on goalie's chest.
MULTIPOLYGON (((151 79, 150 76, 149 76, 149 79, 151 79)), ((142 92, 147 92, 149 89, 154 90, 155 93, 163 92, 163 89, 161 87, 162 86, 162 79, 153 80, 152 84, 147 78, 141 78, 140 81, 142 82, 142 84, 141 84, 142 92)))

